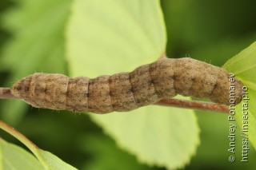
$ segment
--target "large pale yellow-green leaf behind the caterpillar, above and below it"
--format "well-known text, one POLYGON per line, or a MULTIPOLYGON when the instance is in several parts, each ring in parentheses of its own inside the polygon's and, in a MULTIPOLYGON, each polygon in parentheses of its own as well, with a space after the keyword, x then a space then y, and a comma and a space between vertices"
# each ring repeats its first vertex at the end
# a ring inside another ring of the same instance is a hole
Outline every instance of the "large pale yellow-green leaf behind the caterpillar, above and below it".
MULTIPOLYGON (((131 71, 156 60, 166 47, 162 11, 156 0, 77 0, 66 37, 72 76, 131 71)), ((182 168, 199 143, 191 110, 147 106, 90 117, 119 146, 151 165, 182 168)))

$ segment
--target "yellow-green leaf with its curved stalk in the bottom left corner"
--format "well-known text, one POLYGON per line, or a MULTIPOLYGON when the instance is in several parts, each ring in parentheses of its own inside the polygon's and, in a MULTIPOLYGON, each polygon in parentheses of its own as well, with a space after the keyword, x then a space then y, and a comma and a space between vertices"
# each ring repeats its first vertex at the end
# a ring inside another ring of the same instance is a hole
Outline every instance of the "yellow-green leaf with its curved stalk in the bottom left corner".
POLYGON ((18 132, 16 129, 7 125, 5 122, 0 121, 0 128, 2 130, 10 133, 16 139, 20 140, 22 144, 25 144, 31 152, 34 153, 42 164, 38 165, 38 161, 34 160, 34 157, 31 156, 28 152, 24 151, 22 148, 15 146, 14 144, 8 144, 0 138, 0 168, 1 169, 51 169, 51 170, 76 170, 70 164, 66 164, 63 160, 59 159, 57 156, 54 156, 52 153, 38 148, 33 144, 26 136, 18 132), (2 161, 1 161, 2 160, 2 161), (29 163, 27 163, 29 162, 29 163), (22 164, 23 163, 23 164, 22 164), (34 167, 33 167, 34 166, 34 167), (6 167, 6 168, 2 168, 6 167), (31 167, 31 168, 30 168, 31 167), (33 167, 33 168, 32 168, 33 167))

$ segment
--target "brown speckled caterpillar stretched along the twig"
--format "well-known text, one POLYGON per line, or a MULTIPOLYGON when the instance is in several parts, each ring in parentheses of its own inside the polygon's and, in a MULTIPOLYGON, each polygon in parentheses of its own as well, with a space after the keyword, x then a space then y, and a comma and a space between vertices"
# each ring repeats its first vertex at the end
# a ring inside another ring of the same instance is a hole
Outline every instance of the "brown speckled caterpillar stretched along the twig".
MULTIPOLYGON (((235 81, 235 104, 242 100, 235 81)), ((230 105, 230 73, 184 57, 160 59, 130 73, 96 78, 34 73, 14 83, 11 93, 36 108, 73 112, 126 112, 177 94, 230 105)))

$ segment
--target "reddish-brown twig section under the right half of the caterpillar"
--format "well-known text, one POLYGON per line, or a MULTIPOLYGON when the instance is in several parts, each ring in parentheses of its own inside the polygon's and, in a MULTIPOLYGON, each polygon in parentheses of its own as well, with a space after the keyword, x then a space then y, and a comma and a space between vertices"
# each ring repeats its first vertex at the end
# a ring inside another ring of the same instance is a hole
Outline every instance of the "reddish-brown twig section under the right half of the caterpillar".
POLYGON ((187 101, 179 99, 162 99, 154 105, 163 105, 169 107, 178 107, 185 109, 198 109, 206 111, 214 111, 221 113, 230 113, 230 108, 227 105, 222 105, 218 103, 205 102, 205 101, 187 101))

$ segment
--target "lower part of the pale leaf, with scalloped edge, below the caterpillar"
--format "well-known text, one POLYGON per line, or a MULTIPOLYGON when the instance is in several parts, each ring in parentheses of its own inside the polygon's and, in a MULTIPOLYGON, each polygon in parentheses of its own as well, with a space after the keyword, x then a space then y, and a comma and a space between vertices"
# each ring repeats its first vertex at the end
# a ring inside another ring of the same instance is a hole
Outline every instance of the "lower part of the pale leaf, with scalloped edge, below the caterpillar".
POLYGON ((130 113, 93 115, 121 148, 141 162, 182 168, 198 145, 198 125, 191 110, 146 106, 130 113))

